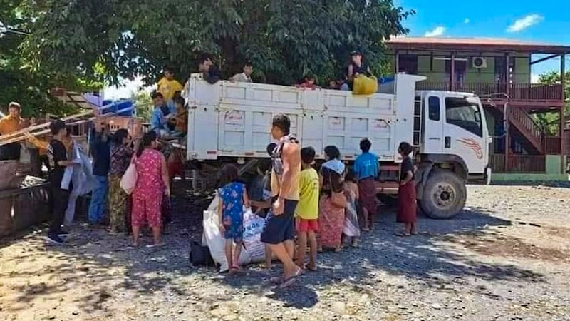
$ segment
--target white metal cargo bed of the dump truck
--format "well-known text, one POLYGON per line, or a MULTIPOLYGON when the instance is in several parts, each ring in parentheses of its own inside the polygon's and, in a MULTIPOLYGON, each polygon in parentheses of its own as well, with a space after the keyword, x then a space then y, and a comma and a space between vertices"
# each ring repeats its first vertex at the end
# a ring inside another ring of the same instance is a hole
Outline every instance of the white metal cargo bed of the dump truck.
POLYGON ((347 160, 361 153, 368 137, 381 161, 398 161, 400 141, 412 141, 415 82, 398 75, 393 93, 354 96, 350 91, 301 89, 261 83, 214 85, 193 75, 185 86, 189 106, 187 155, 190 159, 268 157, 271 118, 284 113, 302 146, 337 146, 347 160))

